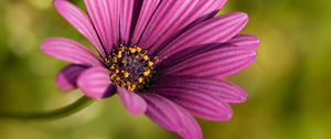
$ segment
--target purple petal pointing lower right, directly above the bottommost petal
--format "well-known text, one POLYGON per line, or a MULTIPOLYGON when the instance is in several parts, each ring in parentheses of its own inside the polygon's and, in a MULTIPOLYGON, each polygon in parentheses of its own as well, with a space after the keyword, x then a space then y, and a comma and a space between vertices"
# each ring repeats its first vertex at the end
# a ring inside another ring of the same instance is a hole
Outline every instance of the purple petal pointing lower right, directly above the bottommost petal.
POLYGON ((232 118, 232 109, 228 104, 221 97, 216 97, 213 93, 209 93, 202 88, 185 84, 168 85, 158 86, 152 93, 177 103, 196 117, 218 121, 232 118))

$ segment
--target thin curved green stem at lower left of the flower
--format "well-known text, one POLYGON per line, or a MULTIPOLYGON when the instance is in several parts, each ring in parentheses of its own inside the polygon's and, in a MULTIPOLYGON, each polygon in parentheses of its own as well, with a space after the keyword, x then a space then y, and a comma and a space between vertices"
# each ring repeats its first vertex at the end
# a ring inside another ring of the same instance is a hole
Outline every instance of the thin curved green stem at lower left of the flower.
POLYGON ((58 108, 52 111, 46 113, 34 113, 34 114, 19 114, 19 113, 1 113, 0 119, 20 119, 20 120, 45 120, 45 119, 58 119, 66 116, 71 116, 83 108, 93 104, 93 99, 86 96, 81 97, 75 103, 65 106, 63 108, 58 108))

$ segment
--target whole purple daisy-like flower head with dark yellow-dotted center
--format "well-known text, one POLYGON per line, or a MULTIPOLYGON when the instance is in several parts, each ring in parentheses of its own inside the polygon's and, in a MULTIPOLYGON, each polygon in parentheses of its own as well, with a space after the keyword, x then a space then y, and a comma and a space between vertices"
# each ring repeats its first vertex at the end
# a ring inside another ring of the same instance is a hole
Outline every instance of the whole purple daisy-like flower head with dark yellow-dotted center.
POLYGON ((57 12, 98 54, 64 38, 45 40, 46 54, 72 63, 56 77, 63 89, 92 98, 118 94, 134 115, 146 114, 185 139, 201 139, 194 117, 228 120, 229 103, 246 93, 221 78, 256 57, 254 35, 238 34, 247 15, 215 17, 226 0, 85 0, 88 14, 66 0, 57 12))

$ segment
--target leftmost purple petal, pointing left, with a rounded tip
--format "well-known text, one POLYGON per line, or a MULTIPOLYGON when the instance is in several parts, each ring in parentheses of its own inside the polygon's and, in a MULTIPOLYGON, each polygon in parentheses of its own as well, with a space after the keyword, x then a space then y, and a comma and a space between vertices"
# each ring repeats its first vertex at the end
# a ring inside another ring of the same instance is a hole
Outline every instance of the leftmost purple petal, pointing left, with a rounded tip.
POLYGON ((54 57, 73 64, 98 66, 99 58, 82 44, 64 38, 47 39, 41 44, 41 50, 54 57))

